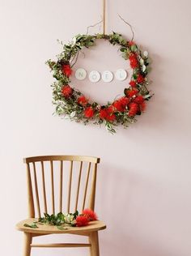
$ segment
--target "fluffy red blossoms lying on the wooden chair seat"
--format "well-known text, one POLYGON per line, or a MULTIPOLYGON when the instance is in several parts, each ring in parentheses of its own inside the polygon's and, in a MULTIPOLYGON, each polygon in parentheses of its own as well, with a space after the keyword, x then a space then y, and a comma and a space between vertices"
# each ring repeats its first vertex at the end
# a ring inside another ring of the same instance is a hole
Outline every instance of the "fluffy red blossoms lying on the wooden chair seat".
POLYGON ((85 209, 83 210, 83 213, 76 218, 76 226, 87 226, 87 224, 93 220, 97 220, 96 212, 92 211, 91 209, 85 209))

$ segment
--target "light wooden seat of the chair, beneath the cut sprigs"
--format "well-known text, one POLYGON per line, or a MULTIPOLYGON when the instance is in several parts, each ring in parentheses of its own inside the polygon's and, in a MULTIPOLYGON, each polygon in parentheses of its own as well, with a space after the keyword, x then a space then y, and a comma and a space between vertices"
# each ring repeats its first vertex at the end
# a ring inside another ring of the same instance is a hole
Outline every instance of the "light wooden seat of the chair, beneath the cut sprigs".
POLYGON ((66 226, 67 229, 59 229, 57 226, 52 226, 49 224, 37 224, 38 228, 28 228, 25 227, 24 224, 32 224, 34 221, 38 221, 38 219, 29 218, 26 220, 20 221, 16 224, 16 228, 19 231, 23 231, 25 233, 35 233, 35 234, 56 234, 56 233, 70 233, 70 234, 79 234, 79 235, 88 235, 91 232, 98 231, 106 228, 104 222, 100 220, 91 221, 87 226, 84 227, 70 227, 66 226))

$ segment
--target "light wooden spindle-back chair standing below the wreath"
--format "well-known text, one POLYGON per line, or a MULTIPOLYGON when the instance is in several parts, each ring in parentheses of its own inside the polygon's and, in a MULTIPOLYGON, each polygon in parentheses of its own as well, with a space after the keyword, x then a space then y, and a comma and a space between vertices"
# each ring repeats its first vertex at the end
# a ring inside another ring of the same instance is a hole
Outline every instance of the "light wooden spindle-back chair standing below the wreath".
POLYGON ((100 159, 91 156, 35 156, 23 161, 27 165, 29 218, 16 225, 24 235, 23 256, 30 256, 32 247, 90 247, 90 255, 99 256, 98 231, 106 228, 100 220, 66 230, 49 225, 28 228, 24 224, 32 224, 44 213, 82 212, 84 208, 94 211, 100 159), (89 242, 32 244, 33 237, 63 233, 86 236, 89 242))

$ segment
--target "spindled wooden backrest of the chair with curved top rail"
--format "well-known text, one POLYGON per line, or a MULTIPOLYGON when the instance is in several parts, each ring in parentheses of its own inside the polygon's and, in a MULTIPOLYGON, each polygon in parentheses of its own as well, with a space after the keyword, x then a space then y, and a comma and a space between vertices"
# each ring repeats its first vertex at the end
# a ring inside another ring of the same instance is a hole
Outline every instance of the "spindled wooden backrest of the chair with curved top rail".
POLYGON ((28 215, 81 213, 94 210, 96 172, 100 158, 91 156, 33 156, 27 164, 28 215))

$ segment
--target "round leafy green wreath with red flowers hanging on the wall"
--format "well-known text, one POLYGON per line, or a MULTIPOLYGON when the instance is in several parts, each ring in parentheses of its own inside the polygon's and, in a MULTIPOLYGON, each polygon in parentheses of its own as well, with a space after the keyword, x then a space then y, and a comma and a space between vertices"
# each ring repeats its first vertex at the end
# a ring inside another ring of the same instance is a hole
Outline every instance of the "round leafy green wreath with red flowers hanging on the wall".
POLYGON ((108 131, 115 133, 114 126, 121 124, 124 127, 129 123, 136 122, 136 115, 141 115, 146 108, 146 100, 151 98, 147 89, 149 72, 148 53, 141 49, 134 41, 126 41, 123 36, 113 32, 110 35, 77 35, 73 41, 63 45, 62 53, 57 56, 57 62, 47 61, 53 71, 53 104, 56 105, 56 113, 59 116, 69 117, 75 122, 83 122, 87 125, 93 121, 95 124, 104 123, 108 131), (112 45, 120 45, 122 58, 129 60, 133 75, 129 87, 124 89, 124 95, 108 102, 106 105, 99 105, 95 101, 87 100, 82 92, 71 87, 70 75, 72 67, 78 59, 79 52, 83 48, 96 45, 97 39, 109 41, 112 45), (74 64, 72 63, 74 62, 74 64))

